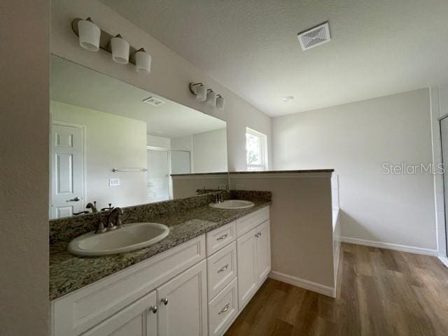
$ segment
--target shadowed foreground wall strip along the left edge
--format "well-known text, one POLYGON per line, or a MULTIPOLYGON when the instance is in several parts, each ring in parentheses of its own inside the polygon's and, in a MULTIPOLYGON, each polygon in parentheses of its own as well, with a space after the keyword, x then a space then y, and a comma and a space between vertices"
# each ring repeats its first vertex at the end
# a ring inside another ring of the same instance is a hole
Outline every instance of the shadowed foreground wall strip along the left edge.
POLYGON ((47 336, 50 1, 0 13, 0 335, 47 336))

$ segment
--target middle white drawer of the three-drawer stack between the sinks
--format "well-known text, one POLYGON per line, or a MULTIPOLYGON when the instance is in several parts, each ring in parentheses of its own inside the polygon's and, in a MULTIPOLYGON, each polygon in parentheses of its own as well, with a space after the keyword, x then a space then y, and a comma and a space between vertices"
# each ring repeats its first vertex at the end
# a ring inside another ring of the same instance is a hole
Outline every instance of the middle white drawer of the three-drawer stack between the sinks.
POLYGON ((209 300, 237 276, 237 243, 225 246, 207 258, 209 300))

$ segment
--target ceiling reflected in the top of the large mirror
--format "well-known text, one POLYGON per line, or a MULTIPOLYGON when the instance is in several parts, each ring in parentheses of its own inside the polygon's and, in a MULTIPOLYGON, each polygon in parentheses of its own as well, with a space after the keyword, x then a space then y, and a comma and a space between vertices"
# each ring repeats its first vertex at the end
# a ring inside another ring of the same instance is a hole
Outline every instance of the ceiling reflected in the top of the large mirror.
POLYGON ((226 127, 225 121, 163 97, 165 103, 142 102, 155 94, 52 55, 50 99, 147 123, 148 134, 185 137, 226 127), (174 120, 176 120, 174 122, 174 120))

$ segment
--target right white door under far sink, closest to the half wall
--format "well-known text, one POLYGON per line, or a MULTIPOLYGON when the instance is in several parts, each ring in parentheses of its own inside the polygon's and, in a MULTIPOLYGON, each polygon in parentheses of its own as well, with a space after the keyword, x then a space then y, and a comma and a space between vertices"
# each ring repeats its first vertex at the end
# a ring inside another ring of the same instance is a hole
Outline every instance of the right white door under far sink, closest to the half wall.
POLYGON ((269 221, 255 228, 255 240, 257 246, 255 272, 257 274, 257 285, 261 283, 271 271, 271 232, 269 221))

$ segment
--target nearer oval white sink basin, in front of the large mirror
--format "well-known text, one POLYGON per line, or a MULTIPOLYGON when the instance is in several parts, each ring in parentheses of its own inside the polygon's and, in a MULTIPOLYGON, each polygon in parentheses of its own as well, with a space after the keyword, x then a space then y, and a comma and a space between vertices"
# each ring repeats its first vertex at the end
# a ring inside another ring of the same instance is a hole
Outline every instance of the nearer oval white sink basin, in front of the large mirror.
POLYGON ((121 229, 79 236, 70 241, 69 252, 87 257, 122 253, 155 244, 168 234, 169 228, 163 224, 125 224, 121 229))

